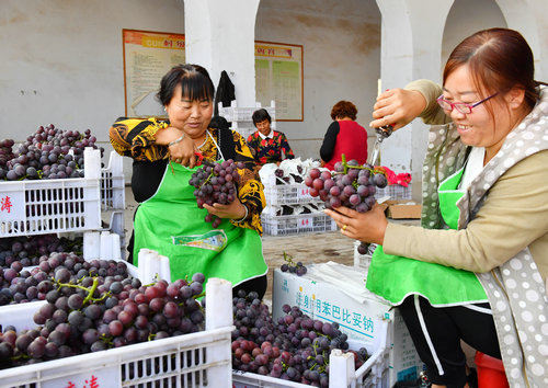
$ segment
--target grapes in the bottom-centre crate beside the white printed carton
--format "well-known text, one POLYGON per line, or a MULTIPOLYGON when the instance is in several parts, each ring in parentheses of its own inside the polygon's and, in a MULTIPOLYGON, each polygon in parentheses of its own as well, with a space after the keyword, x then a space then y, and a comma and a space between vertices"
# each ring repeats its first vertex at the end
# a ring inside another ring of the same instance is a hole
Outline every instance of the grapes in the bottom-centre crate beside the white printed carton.
POLYGON ((313 320, 298 307, 283 306, 285 316, 274 322, 269 307, 254 292, 240 290, 233 298, 232 368, 329 387, 329 354, 333 349, 352 352, 356 369, 367 351, 349 351, 346 334, 338 323, 313 320))

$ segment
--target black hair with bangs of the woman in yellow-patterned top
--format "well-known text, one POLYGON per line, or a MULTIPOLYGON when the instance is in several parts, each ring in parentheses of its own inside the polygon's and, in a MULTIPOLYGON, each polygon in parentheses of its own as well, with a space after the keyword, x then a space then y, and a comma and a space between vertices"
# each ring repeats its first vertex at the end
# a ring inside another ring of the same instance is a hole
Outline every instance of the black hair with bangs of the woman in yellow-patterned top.
POLYGON ((156 98, 162 105, 169 104, 178 85, 181 85, 182 98, 191 101, 213 101, 215 87, 209 73, 199 65, 178 65, 171 68, 160 81, 160 91, 156 98))

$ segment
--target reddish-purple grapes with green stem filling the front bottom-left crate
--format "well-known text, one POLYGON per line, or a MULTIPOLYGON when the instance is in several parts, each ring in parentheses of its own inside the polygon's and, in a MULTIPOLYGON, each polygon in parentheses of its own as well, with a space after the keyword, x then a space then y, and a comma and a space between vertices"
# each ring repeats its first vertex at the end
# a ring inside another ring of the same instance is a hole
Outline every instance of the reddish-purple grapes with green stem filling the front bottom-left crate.
MULTIPOLYGON (((93 264, 92 264, 93 265, 93 264)), ((118 262, 116 266, 125 266, 118 262)), ((75 281, 58 267, 34 315, 35 329, 0 335, 0 368, 119 347, 202 330, 204 275, 144 286, 123 275, 75 281)))

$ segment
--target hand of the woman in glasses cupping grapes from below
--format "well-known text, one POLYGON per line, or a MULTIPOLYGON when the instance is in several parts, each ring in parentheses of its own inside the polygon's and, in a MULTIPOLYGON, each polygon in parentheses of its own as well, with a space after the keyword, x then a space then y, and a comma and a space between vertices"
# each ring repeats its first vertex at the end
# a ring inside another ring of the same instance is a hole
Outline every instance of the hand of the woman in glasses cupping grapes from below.
POLYGON ((383 244, 388 220, 378 204, 366 213, 357 213, 344 206, 338 207, 336 210, 323 212, 334 219, 344 236, 363 242, 383 244))

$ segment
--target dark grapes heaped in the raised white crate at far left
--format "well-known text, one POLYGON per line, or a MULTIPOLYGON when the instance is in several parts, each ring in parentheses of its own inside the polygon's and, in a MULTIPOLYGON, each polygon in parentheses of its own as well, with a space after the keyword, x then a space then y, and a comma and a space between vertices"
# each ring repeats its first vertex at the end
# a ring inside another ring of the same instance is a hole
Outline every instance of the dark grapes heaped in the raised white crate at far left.
MULTIPOLYGON (((83 150, 98 148, 90 129, 62 130, 39 126, 16 150, 14 141, 0 141, 0 180, 38 180, 83 176, 83 150), (80 171, 81 170, 81 171, 80 171)), ((101 155, 104 149, 101 147, 101 155)))

